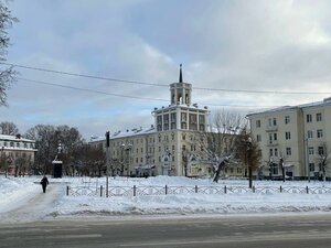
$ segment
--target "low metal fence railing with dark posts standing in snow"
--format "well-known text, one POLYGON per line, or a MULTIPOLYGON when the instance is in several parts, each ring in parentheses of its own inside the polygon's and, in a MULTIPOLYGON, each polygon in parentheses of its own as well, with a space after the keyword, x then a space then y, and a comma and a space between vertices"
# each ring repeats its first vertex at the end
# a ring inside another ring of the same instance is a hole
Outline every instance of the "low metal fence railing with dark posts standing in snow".
POLYGON ((99 187, 67 186, 66 195, 71 196, 141 196, 141 195, 175 195, 175 194, 245 194, 245 193, 290 193, 290 194, 331 194, 331 187, 314 186, 109 186, 108 194, 102 185, 99 187))

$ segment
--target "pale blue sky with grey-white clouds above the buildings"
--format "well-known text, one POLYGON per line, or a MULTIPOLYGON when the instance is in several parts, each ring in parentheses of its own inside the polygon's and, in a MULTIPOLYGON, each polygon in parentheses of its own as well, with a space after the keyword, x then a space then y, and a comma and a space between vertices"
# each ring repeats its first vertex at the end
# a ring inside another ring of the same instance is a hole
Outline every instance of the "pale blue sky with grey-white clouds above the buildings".
POLYGON ((76 127, 85 139, 149 127, 153 108, 170 103, 179 64, 192 101, 212 111, 331 96, 328 0, 15 0, 10 9, 20 22, 9 63, 152 84, 17 67, 0 117, 22 133, 39 123, 76 127))

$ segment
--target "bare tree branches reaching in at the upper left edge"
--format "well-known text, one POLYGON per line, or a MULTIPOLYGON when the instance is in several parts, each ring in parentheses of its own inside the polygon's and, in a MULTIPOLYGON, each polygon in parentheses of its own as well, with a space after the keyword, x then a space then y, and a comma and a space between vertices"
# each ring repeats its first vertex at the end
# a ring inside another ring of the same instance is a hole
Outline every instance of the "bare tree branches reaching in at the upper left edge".
POLYGON ((18 19, 11 15, 11 11, 7 6, 8 1, 0 1, 0 106, 7 106, 6 90, 10 84, 14 82, 17 72, 12 66, 6 66, 6 56, 10 45, 8 29, 12 26, 18 19))

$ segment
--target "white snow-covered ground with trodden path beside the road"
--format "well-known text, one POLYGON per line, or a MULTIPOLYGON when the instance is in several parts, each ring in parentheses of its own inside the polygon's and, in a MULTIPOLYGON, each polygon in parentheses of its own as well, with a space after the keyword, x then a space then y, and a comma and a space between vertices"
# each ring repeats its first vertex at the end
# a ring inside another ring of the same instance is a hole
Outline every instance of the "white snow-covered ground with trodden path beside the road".
MULTIPOLYGON (((66 185, 105 187, 106 180, 63 177, 50 180, 47 192, 42 193, 41 177, 0 177, 0 223, 34 222, 70 217, 121 217, 142 215, 234 215, 274 213, 322 213, 331 211, 331 193, 232 193, 232 194, 169 194, 145 196, 66 196, 66 185)), ((245 186, 245 180, 214 183, 209 179, 194 180, 175 176, 148 179, 110 177, 109 186, 245 186)), ((331 187, 330 182, 255 181, 260 186, 331 187)))

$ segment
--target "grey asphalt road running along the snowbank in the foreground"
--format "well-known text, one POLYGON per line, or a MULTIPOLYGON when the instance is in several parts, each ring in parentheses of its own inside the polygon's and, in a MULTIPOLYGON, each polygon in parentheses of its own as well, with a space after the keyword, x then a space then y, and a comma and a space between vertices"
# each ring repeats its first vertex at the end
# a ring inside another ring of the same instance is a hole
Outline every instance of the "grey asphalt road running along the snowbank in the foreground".
POLYGON ((328 214, 98 219, 1 225, 0 247, 331 247, 328 214))

